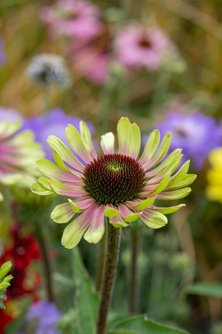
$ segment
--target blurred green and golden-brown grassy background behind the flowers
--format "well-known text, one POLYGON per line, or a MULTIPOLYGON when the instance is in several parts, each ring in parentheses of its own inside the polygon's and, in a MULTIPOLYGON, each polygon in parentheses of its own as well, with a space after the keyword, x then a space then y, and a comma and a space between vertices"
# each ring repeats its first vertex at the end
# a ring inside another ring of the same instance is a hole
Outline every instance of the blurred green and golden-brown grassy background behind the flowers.
MULTIPOLYGON (((103 12, 102 20, 107 30, 102 37, 104 40, 115 33, 115 29, 132 20, 145 26, 158 25, 177 45, 185 66, 181 71, 163 69, 149 73, 141 70, 131 75, 119 75, 118 72, 118 75, 114 75, 114 87, 95 85, 81 75, 72 61, 70 41, 64 37, 50 36, 47 25, 40 20, 38 13, 43 6, 53 3, 36 0, 0 1, 0 34, 7 57, 6 63, 0 68, 1 106, 14 108, 26 117, 44 112, 42 86, 30 80, 26 68, 32 56, 48 52, 64 56, 73 77, 72 87, 51 85, 48 109, 60 106, 67 114, 90 121, 96 126, 96 141, 107 129, 116 134, 116 124, 121 116, 136 122, 143 134, 149 133, 164 119, 170 106, 177 103, 190 109, 200 109, 215 119, 221 118, 220 0, 94 1, 103 12), (108 10, 110 8, 115 10, 108 10)), ((111 70, 116 74, 115 68, 111 70)), ((206 136, 210 134, 206 133, 206 136)), ((169 215, 167 226, 152 230, 138 222, 131 229, 123 231, 111 319, 116 319, 118 314, 130 313, 134 242, 139 249, 137 313, 147 313, 148 317, 156 321, 181 326, 193 334, 222 333, 219 293, 216 297, 207 292, 201 296, 192 291, 186 292, 186 287, 193 282, 222 280, 222 206, 206 197, 208 169, 209 164, 206 162, 201 171, 193 170, 198 177, 191 186, 192 193, 182 201, 186 203, 186 208, 169 215)), ((0 207, 3 246, 10 241, 8 231, 14 219, 11 199, 11 194, 7 196, 6 191, 6 200, 0 207)), ((56 198, 55 201, 62 199, 56 198)), ((173 205, 179 203, 181 200, 175 201, 173 205)), ((53 269, 70 277, 71 253, 60 244, 63 226, 50 220, 51 208, 40 209, 38 214, 43 214, 43 211, 50 232, 50 248, 57 254, 51 259, 53 269)), ((25 223, 21 228, 25 233, 32 230, 31 225, 25 223)), ((90 276, 96 279, 100 244, 88 244, 82 239, 79 247, 90 276)), ((39 264, 33 266, 41 267, 39 264)), ((70 294, 74 288, 61 283, 59 274, 54 284, 57 304, 66 312, 72 307, 70 294)), ((39 293, 44 295, 41 289, 39 293)))

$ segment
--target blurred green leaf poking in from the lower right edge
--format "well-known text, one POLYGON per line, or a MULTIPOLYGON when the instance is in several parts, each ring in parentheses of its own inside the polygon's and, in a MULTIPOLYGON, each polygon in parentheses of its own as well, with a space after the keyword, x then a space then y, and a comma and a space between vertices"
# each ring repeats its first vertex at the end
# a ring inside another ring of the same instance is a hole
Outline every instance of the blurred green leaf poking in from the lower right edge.
POLYGON ((187 294, 222 298, 222 283, 197 282, 185 288, 187 294))

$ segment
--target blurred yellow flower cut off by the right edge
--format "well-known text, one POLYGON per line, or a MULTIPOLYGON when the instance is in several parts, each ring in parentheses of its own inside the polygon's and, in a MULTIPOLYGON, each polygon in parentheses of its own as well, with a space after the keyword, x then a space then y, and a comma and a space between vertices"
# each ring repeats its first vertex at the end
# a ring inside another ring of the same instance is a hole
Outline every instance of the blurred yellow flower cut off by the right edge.
POLYGON ((207 174, 206 194, 210 200, 222 203, 222 147, 210 153, 209 161, 212 167, 207 174))

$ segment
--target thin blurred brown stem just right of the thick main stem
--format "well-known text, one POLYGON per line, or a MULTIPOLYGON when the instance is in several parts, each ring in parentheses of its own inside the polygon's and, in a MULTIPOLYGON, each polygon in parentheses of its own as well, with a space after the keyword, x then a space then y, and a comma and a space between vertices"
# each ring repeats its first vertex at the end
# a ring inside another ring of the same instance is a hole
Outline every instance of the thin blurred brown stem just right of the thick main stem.
POLYGON ((137 261, 139 253, 139 235, 137 229, 132 236, 132 262, 131 262, 131 281, 130 281, 130 312, 137 312, 137 261))

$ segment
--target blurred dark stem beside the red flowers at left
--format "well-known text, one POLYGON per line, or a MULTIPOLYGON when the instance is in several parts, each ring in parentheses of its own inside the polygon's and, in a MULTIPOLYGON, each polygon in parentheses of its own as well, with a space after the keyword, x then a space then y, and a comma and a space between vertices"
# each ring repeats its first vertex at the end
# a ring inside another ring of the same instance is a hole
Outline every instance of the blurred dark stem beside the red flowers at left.
POLYGON ((53 287, 52 287, 52 268, 51 263, 48 257, 48 247, 45 236, 47 233, 44 233, 42 226, 38 222, 35 222, 36 236, 38 238, 39 246, 42 253, 43 266, 46 279, 47 295, 50 302, 54 301, 53 287))

